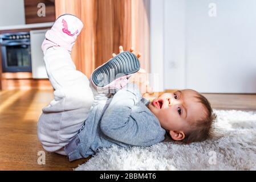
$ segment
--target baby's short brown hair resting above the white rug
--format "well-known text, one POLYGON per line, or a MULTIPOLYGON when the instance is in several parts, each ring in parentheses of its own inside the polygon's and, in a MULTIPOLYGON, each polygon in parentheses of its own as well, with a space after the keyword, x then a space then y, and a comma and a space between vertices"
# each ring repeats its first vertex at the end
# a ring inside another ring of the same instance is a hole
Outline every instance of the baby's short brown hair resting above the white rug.
POLYGON ((210 102, 200 93, 195 96, 197 100, 205 107, 205 116, 192 124, 192 129, 185 134, 182 143, 202 142, 213 135, 213 123, 217 115, 213 113, 210 102))

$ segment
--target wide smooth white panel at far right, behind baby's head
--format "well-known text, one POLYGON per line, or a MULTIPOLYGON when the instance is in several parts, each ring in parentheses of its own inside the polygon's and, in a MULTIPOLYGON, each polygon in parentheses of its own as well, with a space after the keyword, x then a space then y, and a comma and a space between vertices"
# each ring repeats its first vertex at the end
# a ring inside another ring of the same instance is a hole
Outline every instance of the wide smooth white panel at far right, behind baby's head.
POLYGON ((186 1, 187 87, 256 93, 256 1, 186 1), (216 3, 217 16, 208 15, 216 3))

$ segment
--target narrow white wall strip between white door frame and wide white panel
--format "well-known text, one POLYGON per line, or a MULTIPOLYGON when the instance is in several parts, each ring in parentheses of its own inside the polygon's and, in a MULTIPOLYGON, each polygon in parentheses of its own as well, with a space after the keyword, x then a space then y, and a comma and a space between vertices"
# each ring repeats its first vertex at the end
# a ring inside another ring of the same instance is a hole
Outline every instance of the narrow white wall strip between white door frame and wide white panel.
POLYGON ((164 1, 164 88, 185 88, 185 0, 164 1))

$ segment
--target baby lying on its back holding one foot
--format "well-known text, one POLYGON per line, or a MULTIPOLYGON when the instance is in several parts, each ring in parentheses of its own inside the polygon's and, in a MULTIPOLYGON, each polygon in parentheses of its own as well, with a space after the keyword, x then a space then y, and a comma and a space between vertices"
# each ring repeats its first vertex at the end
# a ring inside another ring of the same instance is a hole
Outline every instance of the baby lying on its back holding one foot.
POLYGON ((140 55, 121 48, 116 59, 97 68, 90 80, 76 71, 71 51, 82 28, 76 16, 62 15, 42 44, 47 75, 55 89, 54 100, 43 108, 38 122, 38 138, 45 150, 72 161, 112 145, 151 146, 166 135, 183 143, 210 137, 215 115, 200 93, 178 90, 150 102, 136 84, 128 82, 140 69, 140 55), (107 78, 100 82, 101 73, 107 78))

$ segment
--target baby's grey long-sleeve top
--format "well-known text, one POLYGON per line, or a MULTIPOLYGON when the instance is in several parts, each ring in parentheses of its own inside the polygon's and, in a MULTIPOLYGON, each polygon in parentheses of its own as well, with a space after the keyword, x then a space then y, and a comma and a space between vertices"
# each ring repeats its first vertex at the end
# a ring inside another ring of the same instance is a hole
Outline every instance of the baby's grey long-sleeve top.
POLYGON ((148 109, 135 84, 92 107, 79 134, 65 147, 70 161, 94 155, 99 148, 151 146, 164 140, 165 130, 148 109))

